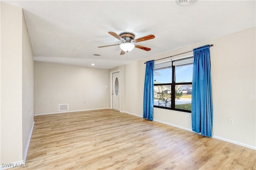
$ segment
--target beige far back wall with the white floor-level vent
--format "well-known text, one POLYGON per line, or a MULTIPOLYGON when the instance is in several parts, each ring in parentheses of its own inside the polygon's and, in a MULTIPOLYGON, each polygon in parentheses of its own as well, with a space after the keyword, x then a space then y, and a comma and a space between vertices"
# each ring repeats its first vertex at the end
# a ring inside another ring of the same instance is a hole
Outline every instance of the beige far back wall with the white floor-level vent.
POLYGON ((106 69, 34 62, 35 115, 64 112, 59 104, 68 111, 108 108, 108 92, 106 69))

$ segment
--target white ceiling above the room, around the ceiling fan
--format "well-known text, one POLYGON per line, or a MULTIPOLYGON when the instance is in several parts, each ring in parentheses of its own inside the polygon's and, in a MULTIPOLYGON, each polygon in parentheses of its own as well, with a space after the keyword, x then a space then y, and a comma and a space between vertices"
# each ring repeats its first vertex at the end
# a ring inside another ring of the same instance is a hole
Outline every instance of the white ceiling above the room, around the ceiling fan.
POLYGON ((255 0, 198 0, 190 6, 174 0, 3 2, 24 9, 35 61, 106 69, 255 27, 256 21, 255 0), (108 31, 155 39, 136 43, 151 51, 134 48, 127 57, 118 46, 98 48, 120 43, 108 31))

